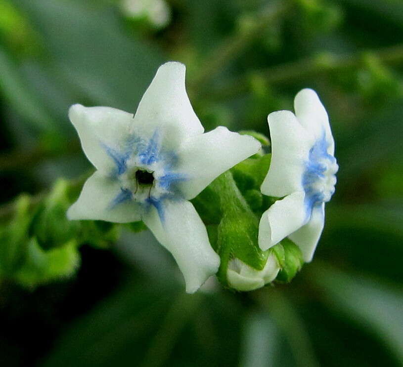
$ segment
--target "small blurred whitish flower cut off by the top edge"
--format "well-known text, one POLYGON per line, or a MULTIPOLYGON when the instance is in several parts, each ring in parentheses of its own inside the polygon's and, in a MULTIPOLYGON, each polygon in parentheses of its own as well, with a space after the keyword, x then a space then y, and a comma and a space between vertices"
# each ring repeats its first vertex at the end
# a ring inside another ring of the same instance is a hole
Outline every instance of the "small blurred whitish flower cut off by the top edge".
POLYGON ((127 17, 145 18, 155 28, 164 28, 171 20, 171 10, 164 0, 123 0, 121 7, 127 17))

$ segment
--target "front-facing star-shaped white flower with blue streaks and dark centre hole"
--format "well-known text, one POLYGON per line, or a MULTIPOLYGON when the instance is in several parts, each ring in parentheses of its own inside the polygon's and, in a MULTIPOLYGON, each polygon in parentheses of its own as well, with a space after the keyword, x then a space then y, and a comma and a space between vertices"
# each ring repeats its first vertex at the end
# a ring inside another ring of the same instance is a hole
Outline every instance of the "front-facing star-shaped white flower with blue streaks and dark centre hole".
POLYGON ((69 111, 83 150, 97 171, 87 180, 70 219, 142 220, 175 257, 194 292, 215 274, 220 257, 188 201, 260 144, 219 126, 203 133, 185 90, 185 66, 162 65, 135 115, 110 107, 69 111))

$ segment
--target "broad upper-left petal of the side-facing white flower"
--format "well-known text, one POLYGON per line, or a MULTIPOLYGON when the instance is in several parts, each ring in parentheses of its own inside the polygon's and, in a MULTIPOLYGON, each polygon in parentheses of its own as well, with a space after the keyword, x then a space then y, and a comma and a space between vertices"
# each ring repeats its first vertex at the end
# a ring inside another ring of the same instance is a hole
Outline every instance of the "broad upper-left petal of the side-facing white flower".
POLYGON ((261 191, 281 198, 302 190, 302 175, 313 139, 290 111, 273 112, 268 122, 272 153, 261 191))

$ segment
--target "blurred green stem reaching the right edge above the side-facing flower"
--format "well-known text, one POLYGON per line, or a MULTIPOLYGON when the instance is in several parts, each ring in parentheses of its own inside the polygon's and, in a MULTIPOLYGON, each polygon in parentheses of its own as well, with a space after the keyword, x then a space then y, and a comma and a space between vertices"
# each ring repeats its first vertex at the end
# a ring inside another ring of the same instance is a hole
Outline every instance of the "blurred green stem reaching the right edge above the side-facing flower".
MULTIPOLYGON (((403 44, 381 48, 378 50, 360 50, 353 54, 335 54, 325 52, 315 56, 276 65, 267 69, 255 71, 269 84, 290 82, 304 79, 318 74, 338 72, 357 67, 365 56, 371 55, 386 64, 401 64, 403 62, 403 44)), ((246 92, 249 88, 250 74, 232 79, 224 87, 210 90, 212 99, 227 99, 246 92)))

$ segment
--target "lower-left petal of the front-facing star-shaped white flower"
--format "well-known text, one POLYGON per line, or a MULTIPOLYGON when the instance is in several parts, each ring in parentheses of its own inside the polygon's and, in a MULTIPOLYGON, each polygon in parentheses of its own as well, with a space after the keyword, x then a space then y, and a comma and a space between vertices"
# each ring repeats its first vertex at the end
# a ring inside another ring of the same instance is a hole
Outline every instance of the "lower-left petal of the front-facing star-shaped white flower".
POLYGON ((69 219, 128 223, 141 220, 140 206, 122 193, 119 182, 96 171, 84 184, 77 202, 67 211, 69 219))

